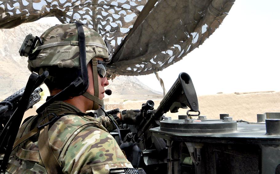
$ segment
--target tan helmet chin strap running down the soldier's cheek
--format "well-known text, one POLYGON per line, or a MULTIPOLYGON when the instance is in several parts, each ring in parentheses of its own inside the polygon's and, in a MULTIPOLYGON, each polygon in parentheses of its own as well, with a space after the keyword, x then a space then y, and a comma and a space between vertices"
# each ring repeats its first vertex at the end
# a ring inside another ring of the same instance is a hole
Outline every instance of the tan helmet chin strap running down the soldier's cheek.
POLYGON ((97 59, 92 59, 92 75, 93 75, 93 85, 94 85, 94 95, 85 92, 82 95, 86 98, 93 101, 93 108, 92 110, 97 110, 99 105, 103 105, 103 100, 99 99, 99 90, 98 90, 98 72, 97 72, 97 59))

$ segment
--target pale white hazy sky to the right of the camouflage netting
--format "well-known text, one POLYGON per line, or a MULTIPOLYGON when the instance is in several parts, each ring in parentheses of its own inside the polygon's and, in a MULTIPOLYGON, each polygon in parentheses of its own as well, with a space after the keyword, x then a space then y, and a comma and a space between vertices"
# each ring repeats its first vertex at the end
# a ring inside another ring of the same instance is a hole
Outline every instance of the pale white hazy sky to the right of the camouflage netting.
MULTIPOLYGON (((279 0, 236 0, 222 25, 199 48, 159 72, 166 90, 186 72, 198 95, 280 91, 279 6, 279 0)), ((154 74, 138 78, 162 91, 154 74)))

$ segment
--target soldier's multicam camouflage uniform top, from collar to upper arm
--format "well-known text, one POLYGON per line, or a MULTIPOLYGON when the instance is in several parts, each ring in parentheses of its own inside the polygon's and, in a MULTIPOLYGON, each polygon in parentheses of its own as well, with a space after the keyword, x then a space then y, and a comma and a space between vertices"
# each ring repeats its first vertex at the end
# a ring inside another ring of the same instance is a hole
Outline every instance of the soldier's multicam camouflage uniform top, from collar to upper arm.
MULTIPOLYGON (((71 104, 56 101, 43 112, 81 112, 71 104)), ((17 135, 20 138, 34 127, 38 116, 24 123, 17 135), (33 123, 33 124, 32 124, 33 123)), ((42 119, 42 117, 41 117, 42 119)), ((112 117, 114 120, 114 118, 112 117)), ((115 120, 114 120, 115 121, 115 120)), ((36 125, 35 125, 36 126, 36 125)), ((63 173, 109 173, 110 168, 133 168, 115 139, 108 133, 114 130, 110 119, 101 116, 70 114, 58 119, 49 129, 49 142, 63 173)), ((16 148, 10 157, 8 173, 47 173, 38 151, 38 141, 29 138, 16 148)))

